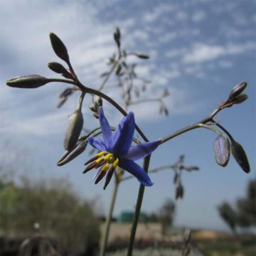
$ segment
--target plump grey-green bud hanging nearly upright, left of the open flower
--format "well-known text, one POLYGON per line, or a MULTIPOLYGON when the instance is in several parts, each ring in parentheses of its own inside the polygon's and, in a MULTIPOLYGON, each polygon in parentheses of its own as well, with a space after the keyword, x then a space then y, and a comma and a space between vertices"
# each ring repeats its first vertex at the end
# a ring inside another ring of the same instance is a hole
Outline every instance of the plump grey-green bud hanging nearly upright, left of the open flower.
POLYGON ((82 112, 80 110, 75 110, 68 119, 68 128, 64 139, 64 148, 66 150, 71 151, 74 149, 82 130, 82 124, 82 112))

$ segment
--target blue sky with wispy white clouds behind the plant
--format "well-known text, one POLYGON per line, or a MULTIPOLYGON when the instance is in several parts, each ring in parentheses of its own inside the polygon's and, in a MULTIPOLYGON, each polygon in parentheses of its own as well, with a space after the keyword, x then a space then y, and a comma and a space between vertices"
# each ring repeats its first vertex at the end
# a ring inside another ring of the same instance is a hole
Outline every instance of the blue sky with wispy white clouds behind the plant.
MULTIPOLYGON (((208 130, 171 140, 151 160, 153 168, 172 164, 185 154, 187 164, 201 167, 201 171, 183 174, 186 194, 177 202, 177 225, 225 228, 216 206, 223 200, 234 202, 245 193, 247 181, 255 178, 255 1, 1 0, 0 24, 1 146, 7 141, 10 147, 7 152, 1 149, 1 159, 8 154, 11 161, 18 151, 18 174, 26 171, 35 178, 68 177, 82 197, 98 198, 105 212, 112 185, 103 191, 102 184, 92 183, 93 173, 81 174, 87 154, 63 167, 56 166, 63 153, 67 119, 79 95, 56 109, 58 94, 66 85, 36 90, 5 85, 16 75, 56 76, 47 68, 48 62, 59 61, 50 47, 50 32, 68 46, 80 80, 95 88, 100 85, 100 73, 107 70, 107 57, 115 50, 112 33, 116 26, 121 28, 124 48, 151 56, 149 61, 139 61, 137 68, 140 75, 152 80, 146 97, 160 94, 164 87, 171 95, 165 100, 169 117, 159 116, 156 104, 132 109, 149 139, 164 137, 206 117, 234 85, 247 81, 249 99, 215 119, 244 146, 252 169, 249 175, 233 158, 225 169, 215 164, 215 135, 208 130)), ((122 102, 119 91, 105 92, 122 102)), ((87 110, 89 103, 87 97, 83 113, 88 129, 97 125, 87 110)), ((120 115, 109 105, 105 107, 110 122, 117 124, 120 115)), ((172 177, 171 171, 151 176, 154 186, 146 188, 143 210, 157 210, 166 198, 174 198, 172 177)), ((134 208, 138 187, 135 179, 120 186, 115 214, 134 208)))

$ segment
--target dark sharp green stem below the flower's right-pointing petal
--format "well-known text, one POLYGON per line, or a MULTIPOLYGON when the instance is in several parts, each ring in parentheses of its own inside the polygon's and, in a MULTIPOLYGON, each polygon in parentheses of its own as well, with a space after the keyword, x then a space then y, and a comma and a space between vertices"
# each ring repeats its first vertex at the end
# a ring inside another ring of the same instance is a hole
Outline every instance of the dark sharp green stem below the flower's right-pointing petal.
MULTIPOLYGON (((144 159, 143 169, 144 169, 144 171, 146 171, 146 173, 148 173, 148 171, 149 171, 150 157, 151 157, 151 155, 146 156, 146 158, 144 159)), ((133 250, 133 246, 134 246, 134 240, 135 240, 137 225, 138 225, 138 221, 139 221, 139 213, 142 208, 144 191, 145 191, 145 186, 143 186, 141 184, 139 186, 139 193, 138 193, 137 204, 136 204, 136 208, 135 208, 135 212, 134 212, 134 219, 133 219, 133 223, 132 223, 131 235, 129 238, 129 246, 128 246, 128 250, 127 250, 127 256, 132 256, 132 250, 133 250)))

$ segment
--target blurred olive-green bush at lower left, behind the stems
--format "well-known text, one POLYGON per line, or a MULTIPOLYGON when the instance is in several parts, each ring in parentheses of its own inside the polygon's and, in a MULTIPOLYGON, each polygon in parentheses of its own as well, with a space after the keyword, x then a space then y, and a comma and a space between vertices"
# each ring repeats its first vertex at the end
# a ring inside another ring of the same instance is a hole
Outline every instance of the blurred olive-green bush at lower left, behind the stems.
MULTIPOLYGON (((1 181, 1 180, 0 180, 1 181)), ((58 255, 92 250, 100 240, 93 203, 76 196, 66 181, 0 183, 0 229, 31 238, 38 234, 58 242, 58 255)))

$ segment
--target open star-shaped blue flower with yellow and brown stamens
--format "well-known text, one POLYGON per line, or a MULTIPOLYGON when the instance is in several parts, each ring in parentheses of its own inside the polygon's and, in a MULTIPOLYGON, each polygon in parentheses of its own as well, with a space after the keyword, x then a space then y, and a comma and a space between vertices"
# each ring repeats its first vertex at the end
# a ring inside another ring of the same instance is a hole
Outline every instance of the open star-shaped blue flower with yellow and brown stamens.
POLYGON ((88 142, 95 147, 95 149, 98 149, 100 153, 85 163, 87 168, 84 173, 93 168, 97 169, 102 166, 100 171, 95 175, 94 181, 95 184, 98 183, 107 174, 104 186, 105 189, 108 183, 110 183, 114 169, 119 166, 134 175, 142 185, 152 186, 153 183, 149 175, 134 161, 151 154, 151 152, 159 146, 161 140, 132 146, 132 138, 135 129, 133 112, 129 112, 129 114, 122 119, 114 132, 111 131, 110 124, 102 108, 99 110, 99 119, 103 139, 90 137, 88 142))

